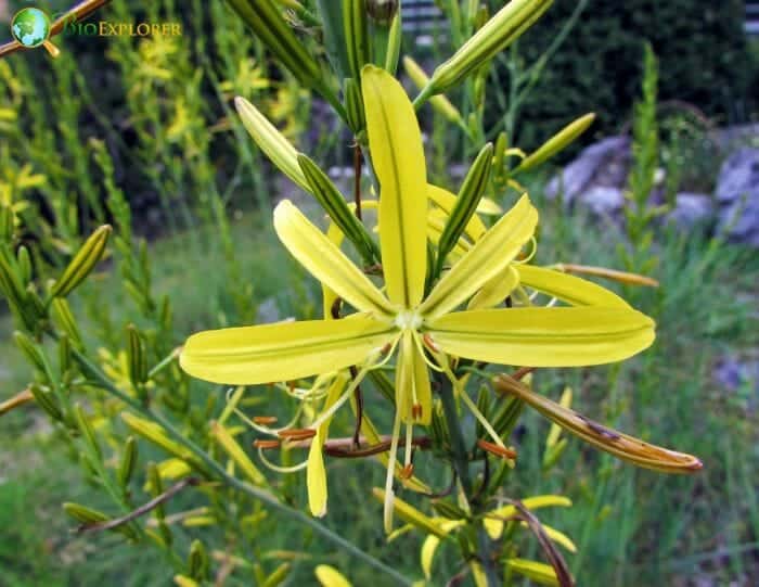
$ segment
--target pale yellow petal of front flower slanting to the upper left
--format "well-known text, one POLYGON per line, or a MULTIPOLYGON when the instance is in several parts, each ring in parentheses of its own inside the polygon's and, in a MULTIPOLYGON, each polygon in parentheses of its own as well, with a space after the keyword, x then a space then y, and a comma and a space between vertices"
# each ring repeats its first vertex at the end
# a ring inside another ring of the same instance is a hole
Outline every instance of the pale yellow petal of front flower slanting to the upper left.
POLYGON ((300 265, 343 299, 362 311, 391 312, 382 292, 288 200, 274 209, 274 230, 300 265))

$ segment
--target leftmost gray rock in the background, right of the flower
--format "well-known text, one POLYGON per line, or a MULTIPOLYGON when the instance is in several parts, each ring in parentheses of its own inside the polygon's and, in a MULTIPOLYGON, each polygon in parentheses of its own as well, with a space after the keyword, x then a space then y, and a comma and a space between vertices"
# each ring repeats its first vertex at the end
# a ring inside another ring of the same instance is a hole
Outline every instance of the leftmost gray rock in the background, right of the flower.
MULTIPOLYGON (((629 157, 630 139, 628 137, 609 137, 583 150, 580 155, 555 176, 545 188, 545 195, 554 199, 559 194, 567 206, 583 192, 599 175, 607 175, 609 164, 629 157)), ((619 174, 616 174, 619 175, 619 174)), ((604 178, 605 186, 619 186, 618 178, 604 178)))

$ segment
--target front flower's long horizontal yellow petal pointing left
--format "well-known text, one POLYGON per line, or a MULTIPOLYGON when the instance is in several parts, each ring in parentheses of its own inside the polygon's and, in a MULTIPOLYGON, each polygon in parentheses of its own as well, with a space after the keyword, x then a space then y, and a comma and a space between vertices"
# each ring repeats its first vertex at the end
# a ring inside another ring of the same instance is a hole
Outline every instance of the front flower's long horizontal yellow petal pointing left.
POLYGON ((208 330, 188 339, 179 361, 198 379, 254 385, 360 363, 394 335, 393 327, 366 316, 208 330))

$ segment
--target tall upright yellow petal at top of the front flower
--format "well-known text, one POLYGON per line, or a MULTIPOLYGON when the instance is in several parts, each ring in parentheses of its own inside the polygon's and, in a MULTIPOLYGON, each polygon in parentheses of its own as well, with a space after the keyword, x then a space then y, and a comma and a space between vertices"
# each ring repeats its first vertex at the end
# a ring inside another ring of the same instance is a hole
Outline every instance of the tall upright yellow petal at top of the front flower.
POLYGON ((366 132, 380 182, 380 244, 390 301, 413 308, 424 294, 427 174, 416 114, 390 74, 361 72, 366 132))

